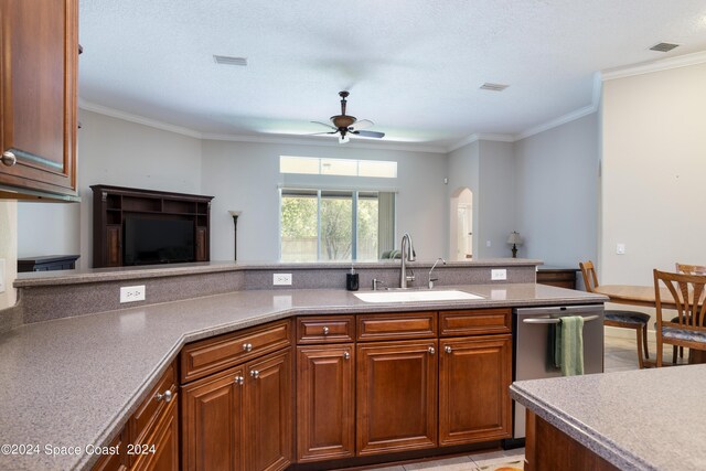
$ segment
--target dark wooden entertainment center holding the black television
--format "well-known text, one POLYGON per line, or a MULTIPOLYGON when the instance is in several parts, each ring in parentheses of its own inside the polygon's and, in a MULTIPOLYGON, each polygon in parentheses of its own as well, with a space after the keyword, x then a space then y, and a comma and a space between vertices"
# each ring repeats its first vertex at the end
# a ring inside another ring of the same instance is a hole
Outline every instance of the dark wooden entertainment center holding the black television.
POLYGON ((210 259, 213 196, 109 185, 90 189, 94 268, 210 259), (148 233, 163 234, 152 236, 157 240, 143 246, 131 247, 130 227, 136 231, 135 238, 142 240, 149 239, 148 233), (151 231, 142 234, 139 227, 151 231), (170 233, 172 236, 167 239, 164 236, 170 233), (165 246, 160 246, 159 239, 164 239, 165 246))

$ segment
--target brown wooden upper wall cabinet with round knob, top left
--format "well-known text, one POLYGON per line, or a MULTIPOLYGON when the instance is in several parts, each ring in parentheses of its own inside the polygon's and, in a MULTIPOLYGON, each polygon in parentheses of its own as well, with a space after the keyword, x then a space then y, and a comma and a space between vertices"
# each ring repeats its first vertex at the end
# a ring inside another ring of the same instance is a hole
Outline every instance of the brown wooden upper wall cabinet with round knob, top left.
POLYGON ((0 199, 78 201, 78 0, 0 1, 0 199))

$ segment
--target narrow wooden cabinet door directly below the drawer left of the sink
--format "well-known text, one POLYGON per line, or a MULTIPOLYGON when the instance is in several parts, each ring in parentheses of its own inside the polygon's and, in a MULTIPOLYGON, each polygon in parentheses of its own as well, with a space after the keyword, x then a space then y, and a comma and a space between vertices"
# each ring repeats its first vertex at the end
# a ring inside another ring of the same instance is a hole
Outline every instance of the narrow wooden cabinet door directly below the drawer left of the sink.
POLYGON ((298 462, 355 452, 353 344, 297 349, 298 462))

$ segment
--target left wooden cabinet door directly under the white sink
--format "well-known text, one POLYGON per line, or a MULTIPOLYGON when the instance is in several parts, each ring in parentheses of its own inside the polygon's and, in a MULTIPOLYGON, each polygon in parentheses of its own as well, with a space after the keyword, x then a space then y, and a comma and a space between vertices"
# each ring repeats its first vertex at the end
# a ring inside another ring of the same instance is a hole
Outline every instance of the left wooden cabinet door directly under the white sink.
POLYGON ((360 456, 436 446, 436 340, 357 345, 360 456))

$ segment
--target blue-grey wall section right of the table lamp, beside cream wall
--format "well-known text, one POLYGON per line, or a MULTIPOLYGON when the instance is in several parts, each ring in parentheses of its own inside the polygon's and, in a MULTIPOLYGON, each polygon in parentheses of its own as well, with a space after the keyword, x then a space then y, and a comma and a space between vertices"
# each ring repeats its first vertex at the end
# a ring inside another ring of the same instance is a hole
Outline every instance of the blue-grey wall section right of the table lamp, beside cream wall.
POLYGON ((518 256, 597 261, 598 114, 515 142, 518 256))

